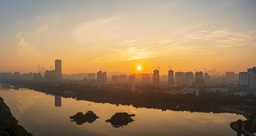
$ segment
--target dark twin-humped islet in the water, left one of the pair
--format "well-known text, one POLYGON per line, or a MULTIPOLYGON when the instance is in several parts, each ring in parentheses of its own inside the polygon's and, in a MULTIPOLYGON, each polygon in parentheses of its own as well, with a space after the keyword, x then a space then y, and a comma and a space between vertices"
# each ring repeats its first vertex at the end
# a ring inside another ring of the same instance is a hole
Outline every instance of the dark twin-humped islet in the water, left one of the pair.
POLYGON ((76 113, 76 115, 74 116, 70 116, 70 119, 73 119, 72 122, 75 121, 77 125, 82 125, 85 122, 92 123, 98 118, 100 117, 96 116, 96 114, 93 113, 93 111, 87 111, 85 114, 79 112, 76 113))

